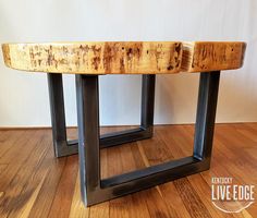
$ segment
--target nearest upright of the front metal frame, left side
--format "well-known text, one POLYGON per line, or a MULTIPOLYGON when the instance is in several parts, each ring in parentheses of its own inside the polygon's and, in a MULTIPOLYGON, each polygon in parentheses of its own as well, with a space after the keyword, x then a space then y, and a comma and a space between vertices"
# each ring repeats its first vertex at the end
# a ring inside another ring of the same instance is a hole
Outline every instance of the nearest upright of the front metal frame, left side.
POLYGON ((83 202, 100 189, 98 76, 76 75, 78 155, 83 202))

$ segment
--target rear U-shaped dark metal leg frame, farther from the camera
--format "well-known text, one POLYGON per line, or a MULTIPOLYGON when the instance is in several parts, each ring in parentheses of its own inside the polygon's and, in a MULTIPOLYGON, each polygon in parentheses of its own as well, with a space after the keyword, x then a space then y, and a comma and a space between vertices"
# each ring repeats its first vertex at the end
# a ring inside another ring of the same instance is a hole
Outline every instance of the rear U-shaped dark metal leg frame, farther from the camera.
MULTIPOLYGON (((155 83, 155 75, 143 75, 140 126, 134 130, 126 130, 101 135, 101 148, 145 140, 152 136, 155 83)), ((78 141, 68 141, 66 138, 62 74, 49 73, 48 87, 51 108, 52 138, 56 157, 77 154, 78 141)))

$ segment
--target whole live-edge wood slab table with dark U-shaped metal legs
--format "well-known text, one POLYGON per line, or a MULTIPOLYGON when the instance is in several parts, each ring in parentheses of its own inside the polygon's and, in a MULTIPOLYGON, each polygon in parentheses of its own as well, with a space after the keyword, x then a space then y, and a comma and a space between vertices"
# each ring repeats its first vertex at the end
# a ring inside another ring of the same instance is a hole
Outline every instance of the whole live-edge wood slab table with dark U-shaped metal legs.
POLYGON ((79 155, 81 192, 89 206, 210 167, 221 70, 243 65, 246 44, 236 41, 109 41, 4 44, 8 66, 47 72, 57 157, 79 155), (192 156, 108 179, 99 150, 152 137, 156 74, 201 72, 192 156), (62 73, 76 74, 78 141, 68 141, 62 73), (99 135, 98 76, 142 74, 142 118, 135 130, 99 135), (77 146, 78 145, 78 146, 77 146))

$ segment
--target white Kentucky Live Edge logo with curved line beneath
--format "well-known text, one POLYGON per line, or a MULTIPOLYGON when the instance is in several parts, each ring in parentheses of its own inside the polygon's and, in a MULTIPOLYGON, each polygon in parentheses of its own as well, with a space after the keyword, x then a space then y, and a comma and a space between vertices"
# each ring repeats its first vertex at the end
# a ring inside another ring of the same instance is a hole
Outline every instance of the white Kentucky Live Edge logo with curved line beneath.
POLYGON ((254 203, 254 187, 233 178, 211 178, 212 204, 224 213, 240 213, 254 203))

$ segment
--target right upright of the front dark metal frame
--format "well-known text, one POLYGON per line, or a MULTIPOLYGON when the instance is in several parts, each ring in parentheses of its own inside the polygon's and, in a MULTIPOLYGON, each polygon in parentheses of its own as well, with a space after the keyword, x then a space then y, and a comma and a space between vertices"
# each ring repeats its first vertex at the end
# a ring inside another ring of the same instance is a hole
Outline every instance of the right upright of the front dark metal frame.
POLYGON ((194 145, 194 157, 199 160, 211 157, 219 80, 219 71, 200 74, 194 145))

